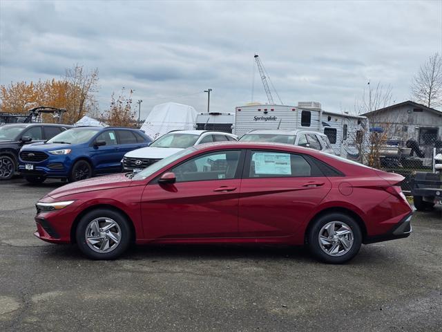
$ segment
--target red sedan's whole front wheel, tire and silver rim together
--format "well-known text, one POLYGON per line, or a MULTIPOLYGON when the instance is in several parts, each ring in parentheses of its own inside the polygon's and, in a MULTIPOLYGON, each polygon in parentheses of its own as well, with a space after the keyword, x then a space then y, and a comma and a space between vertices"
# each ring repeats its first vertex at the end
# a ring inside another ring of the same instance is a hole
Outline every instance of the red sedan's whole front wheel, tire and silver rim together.
POLYGON ((75 233, 81 252, 91 259, 115 259, 131 243, 131 227, 125 216, 97 209, 85 214, 75 233))

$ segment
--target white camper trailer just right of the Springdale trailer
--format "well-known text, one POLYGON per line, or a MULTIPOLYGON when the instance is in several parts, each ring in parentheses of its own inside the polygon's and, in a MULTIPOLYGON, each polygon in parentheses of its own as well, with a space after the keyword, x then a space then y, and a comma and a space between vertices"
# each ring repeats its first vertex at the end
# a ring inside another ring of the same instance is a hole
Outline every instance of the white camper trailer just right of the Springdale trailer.
POLYGON ((358 158, 358 142, 361 146, 363 140, 367 140, 367 137, 364 138, 368 129, 365 116, 323 111, 322 124, 321 131, 329 138, 335 154, 344 158, 358 158))

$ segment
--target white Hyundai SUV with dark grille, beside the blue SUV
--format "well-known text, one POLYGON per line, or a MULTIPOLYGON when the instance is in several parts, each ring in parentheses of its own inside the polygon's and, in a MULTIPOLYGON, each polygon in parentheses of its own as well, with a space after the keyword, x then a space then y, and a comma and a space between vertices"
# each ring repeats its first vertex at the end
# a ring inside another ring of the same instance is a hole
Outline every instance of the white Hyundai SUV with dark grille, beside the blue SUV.
POLYGON ((222 131, 176 130, 157 138, 148 147, 128 152, 122 160, 123 172, 140 172, 162 158, 193 145, 238 140, 238 136, 222 131))

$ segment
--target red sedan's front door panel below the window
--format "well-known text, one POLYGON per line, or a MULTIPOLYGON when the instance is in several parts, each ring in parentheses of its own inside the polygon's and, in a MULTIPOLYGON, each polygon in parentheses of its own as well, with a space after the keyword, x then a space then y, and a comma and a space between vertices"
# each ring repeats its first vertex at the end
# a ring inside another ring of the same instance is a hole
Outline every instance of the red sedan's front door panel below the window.
POLYGON ((144 234, 148 239, 237 237, 239 190, 239 179, 147 185, 144 234))

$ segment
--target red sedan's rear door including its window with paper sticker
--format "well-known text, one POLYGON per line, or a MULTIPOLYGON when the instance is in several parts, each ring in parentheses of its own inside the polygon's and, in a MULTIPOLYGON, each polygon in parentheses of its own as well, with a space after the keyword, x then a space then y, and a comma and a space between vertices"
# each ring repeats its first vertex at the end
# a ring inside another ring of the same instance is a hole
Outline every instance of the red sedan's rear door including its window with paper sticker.
POLYGON ((332 185, 300 154, 250 151, 240 189, 240 237, 288 237, 332 185))

